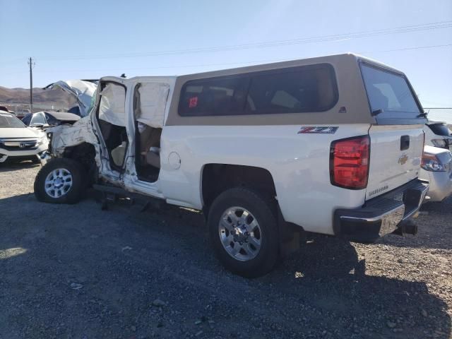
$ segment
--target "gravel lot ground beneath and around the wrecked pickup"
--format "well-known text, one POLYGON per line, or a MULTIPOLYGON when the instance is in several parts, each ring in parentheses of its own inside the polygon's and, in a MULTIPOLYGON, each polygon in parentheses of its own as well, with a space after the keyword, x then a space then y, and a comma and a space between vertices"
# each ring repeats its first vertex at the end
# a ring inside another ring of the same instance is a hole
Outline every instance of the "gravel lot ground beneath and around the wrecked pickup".
POLYGON ((246 280, 201 215, 37 203, 38 169, 0 167, 0 338, 451 338, 452 199, 417 237, 309 237, 246 280))

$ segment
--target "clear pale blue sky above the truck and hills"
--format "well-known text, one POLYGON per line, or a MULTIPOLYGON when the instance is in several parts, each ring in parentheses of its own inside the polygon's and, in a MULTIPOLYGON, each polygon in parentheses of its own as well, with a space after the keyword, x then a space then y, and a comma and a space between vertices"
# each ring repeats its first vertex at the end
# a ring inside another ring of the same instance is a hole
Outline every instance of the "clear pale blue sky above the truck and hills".
POLYGON ((358 52, 407 73, 424 107, 452 107, 451 0, 0 0, 0 45, 9 88, 28 88, 28 57, 42 87, 358 52))

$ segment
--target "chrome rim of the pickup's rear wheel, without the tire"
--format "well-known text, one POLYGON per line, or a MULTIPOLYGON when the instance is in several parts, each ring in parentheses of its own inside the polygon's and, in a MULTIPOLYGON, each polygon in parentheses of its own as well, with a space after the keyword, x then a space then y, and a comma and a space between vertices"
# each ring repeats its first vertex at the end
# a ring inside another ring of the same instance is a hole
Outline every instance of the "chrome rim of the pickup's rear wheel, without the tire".
POLYGON ((238 261, 255 258, 261 249, 261 227, 246 208, 227 208, 221 215, 218 234, 227 254, 238 261))

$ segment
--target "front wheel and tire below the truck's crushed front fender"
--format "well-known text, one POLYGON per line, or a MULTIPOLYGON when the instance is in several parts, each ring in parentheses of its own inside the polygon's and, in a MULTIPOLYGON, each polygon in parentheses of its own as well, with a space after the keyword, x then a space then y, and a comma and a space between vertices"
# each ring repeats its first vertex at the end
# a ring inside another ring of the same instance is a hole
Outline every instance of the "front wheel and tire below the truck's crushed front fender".
POLYGON ((83 166, 72 159, 49 160, 35 179, 35 196, 45 203, 78 203, 87 187, 83 166))

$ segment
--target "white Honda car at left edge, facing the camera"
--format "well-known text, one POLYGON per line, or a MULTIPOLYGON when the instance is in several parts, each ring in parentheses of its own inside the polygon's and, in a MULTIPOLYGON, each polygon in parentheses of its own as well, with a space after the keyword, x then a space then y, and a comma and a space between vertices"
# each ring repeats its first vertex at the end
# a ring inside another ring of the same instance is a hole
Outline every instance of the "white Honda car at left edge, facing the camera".
POLYGON ((43 131, 25 126, 14 114, 0 111, 0 162, 8 158, 40 162, 48 145, 43 131))

